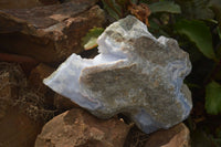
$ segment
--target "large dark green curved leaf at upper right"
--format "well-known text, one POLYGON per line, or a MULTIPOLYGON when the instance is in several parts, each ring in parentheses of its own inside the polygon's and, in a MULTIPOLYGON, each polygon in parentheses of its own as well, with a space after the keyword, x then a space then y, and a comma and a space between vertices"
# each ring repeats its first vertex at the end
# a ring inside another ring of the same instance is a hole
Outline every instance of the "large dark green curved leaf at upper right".
POLYGON ((194 42, 204 56, 217 60, 212 46, 212 35, 204 22, 197 20, 182 20, 179 21, 175 28, 178 33, 186 34, 192 42, 194 42))

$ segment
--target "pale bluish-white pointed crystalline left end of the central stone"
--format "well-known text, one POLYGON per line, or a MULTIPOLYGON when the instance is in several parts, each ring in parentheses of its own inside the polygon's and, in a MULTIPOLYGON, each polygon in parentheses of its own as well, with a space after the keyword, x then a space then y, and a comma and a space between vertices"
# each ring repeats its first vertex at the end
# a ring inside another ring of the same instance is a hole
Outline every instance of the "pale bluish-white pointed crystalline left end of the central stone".
POLYGON ((45 85, 51 87, 56 93, 70 97, 75 103, 90 109, 95 109, 96 104, 93 99, 84 97, 81 91, 80 76, 85 67, 96 66, 99 64, 115 64, 122 61, 118 56, 99 54, 94 60, 82 59, 80 55, 72 54, 60 67, 48 78, 43 81, 45 85), (92 103, 88 103, 88 99, 92 103))

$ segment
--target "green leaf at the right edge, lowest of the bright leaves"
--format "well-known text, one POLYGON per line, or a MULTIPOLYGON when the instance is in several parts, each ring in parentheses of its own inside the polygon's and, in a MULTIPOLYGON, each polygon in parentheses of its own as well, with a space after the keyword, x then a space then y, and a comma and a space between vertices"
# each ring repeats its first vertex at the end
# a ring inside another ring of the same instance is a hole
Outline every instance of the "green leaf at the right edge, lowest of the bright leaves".
POLYGON ((206 87, 206 109, 208 114, 221 113, 221 85, 217 82, 211 82, 206 87))

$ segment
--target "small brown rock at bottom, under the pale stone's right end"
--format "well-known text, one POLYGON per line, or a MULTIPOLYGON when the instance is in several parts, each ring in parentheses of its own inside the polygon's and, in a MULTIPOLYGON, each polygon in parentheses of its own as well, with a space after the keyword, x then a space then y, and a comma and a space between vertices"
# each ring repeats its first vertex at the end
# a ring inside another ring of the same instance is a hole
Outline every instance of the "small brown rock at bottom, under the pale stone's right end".
POLYGON ((145 147, 190 147, 190 132, 185 124, 150 135, 145 147))

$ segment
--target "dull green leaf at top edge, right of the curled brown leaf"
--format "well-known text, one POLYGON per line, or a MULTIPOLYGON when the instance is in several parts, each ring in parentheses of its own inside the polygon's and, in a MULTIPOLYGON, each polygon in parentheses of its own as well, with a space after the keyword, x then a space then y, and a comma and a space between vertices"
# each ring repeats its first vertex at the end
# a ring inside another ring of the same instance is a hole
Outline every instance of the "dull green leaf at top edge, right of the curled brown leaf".
POLYGON ((169 12, 169 13, 181 13, 181 9, 178 4, 172 1, 159 1, 149 4, 151 13, 156 12, 169 12))

